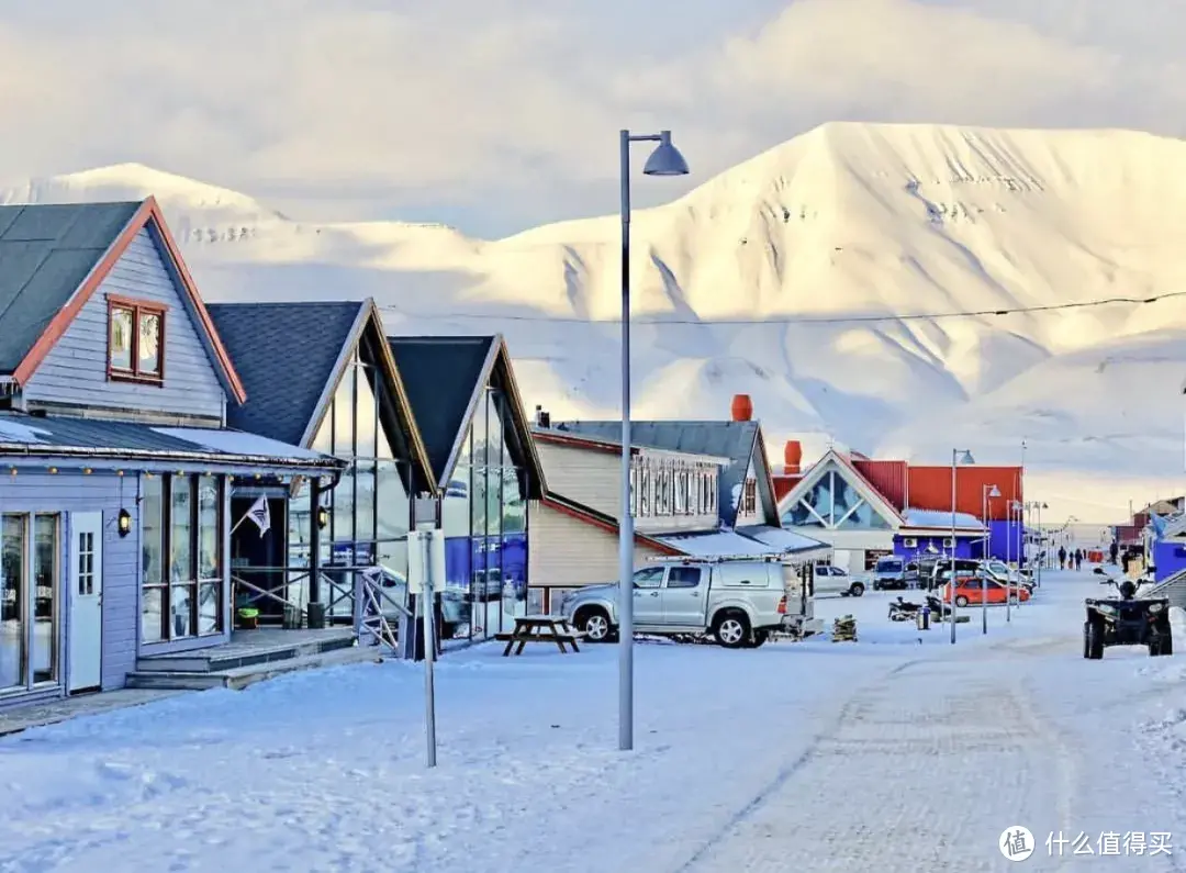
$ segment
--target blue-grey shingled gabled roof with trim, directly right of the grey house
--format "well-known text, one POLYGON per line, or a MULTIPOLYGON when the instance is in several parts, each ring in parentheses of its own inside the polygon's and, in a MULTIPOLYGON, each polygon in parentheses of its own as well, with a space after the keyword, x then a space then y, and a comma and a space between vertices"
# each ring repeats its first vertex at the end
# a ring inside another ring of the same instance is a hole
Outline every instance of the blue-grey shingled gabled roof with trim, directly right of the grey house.
POLYGON ((298 446, 317 438, 351 353, 370 337, 391 387, 394 423, 419 466, 416 480, 433 490, 428 455, 372 300, 212 304, 210 314, 250 389, 249 402, 228 409, 228 423, 298 446))

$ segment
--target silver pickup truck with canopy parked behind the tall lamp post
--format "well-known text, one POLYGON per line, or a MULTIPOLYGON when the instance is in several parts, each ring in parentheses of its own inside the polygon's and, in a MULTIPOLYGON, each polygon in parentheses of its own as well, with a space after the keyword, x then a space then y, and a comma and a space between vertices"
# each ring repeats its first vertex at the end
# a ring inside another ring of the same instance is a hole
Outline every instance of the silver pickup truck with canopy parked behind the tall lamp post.
MULTIPOLYGON (((656 636, 712 633, 727 649, 755 648, 772 632, 822 630, 805 585, 810 568, 779 556, 671 557, 635 573, 635 630, 656 636)), ((589 585, 560 607, 591 643, 618 630, 618 584, 589 585)))

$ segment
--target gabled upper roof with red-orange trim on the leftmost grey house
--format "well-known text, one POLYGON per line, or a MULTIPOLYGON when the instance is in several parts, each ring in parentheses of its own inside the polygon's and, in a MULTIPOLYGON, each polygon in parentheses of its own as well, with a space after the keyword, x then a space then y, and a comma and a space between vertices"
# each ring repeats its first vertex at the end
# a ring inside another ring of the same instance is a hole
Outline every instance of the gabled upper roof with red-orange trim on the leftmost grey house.
POLYGON ((0 375, 18 384, 28 381, 145 228, 164 249, 219 381, 235 402, 243 402, 238 374, 152 197, 0 206, 0 375))

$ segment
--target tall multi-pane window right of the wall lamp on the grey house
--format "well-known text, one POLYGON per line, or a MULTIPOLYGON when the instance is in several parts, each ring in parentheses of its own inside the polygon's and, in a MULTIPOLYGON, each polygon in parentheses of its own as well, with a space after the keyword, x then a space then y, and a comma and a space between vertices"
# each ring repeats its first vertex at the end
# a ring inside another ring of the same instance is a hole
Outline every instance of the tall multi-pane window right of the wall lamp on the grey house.
POLYGON ((222 478, 146 476, 141 495, 141 641, 221 633, 227 529, 222 478))

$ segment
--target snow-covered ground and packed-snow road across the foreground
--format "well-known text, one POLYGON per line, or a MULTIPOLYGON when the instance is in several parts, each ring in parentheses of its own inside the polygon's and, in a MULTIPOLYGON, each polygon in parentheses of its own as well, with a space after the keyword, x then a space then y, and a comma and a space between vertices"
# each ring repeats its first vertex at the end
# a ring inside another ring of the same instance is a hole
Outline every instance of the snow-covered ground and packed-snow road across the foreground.
POLYGON ((1186 840, 1186 668, 1084 661, 1098 591, 1047 574, 987 637, 973 610, 955 646, 888 623, 897 593, 818 603, 857 618, 852 644, 639 643, 632 753, 616 646, 449 655, 433 771, 407 663, 30 731, 0 741, 0 871, 963 873, 1010 868, 1010 826, 1039 842, 1024 868, 1180 869, 1186 846, 1046 856, 1051 831, 1186 840))

